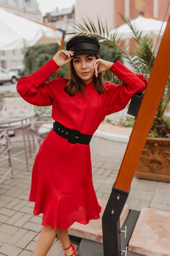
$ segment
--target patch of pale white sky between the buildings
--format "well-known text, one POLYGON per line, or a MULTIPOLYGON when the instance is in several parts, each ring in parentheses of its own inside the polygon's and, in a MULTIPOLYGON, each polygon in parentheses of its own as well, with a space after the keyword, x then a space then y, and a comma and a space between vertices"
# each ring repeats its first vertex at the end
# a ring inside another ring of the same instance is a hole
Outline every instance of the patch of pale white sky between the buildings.
POLYGON ((56 7, 59 10, 69 8, 75 4, 75 0, 37 0, 39 9, 42 14, 53 11, 56 7))

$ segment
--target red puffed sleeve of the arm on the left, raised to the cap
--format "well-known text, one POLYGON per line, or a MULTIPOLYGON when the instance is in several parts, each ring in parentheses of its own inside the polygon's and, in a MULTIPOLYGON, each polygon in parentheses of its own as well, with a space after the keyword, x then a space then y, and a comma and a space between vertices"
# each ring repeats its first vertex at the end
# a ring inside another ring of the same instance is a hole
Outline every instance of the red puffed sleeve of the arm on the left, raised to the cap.
POLYGON ((57 90, 60 79, 45 82, 59 68, 53 59, 45 63, 30 76, 18 79, 17 92, 27 102, 35 106, 50 106, 54 91, 57 90))

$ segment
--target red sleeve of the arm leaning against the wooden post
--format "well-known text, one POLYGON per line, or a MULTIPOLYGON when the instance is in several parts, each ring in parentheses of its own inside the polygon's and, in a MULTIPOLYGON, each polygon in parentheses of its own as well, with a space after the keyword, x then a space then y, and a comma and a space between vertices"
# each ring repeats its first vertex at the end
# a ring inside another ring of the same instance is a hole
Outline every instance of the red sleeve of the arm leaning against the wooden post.
POLYGON ((113 72, 123 83, 121 85, 105 83, 106 91, 106 115, 118 112, 124 109, 135 93, 141 93, 145 90, 147 81, 141 75, 135 75, 120 61, 116 61, 111 67, 113 72))

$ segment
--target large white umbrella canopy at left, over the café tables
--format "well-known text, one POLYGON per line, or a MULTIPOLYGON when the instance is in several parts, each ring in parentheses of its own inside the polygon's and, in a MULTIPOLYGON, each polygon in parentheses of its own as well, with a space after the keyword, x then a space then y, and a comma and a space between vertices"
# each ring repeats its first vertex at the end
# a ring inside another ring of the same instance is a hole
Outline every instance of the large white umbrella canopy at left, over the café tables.
POLYGON ((40 43, 59 43, 62 32, 0 8, 0 50, 13 50, 40 43))

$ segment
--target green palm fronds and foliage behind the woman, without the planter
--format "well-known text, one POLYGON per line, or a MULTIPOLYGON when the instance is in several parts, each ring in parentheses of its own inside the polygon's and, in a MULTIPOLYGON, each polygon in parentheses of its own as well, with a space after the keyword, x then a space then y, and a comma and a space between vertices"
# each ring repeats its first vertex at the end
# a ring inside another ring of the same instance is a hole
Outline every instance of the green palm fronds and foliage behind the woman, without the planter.
MULTIPOLYGON (((117 58, 125 58, 132 67, 132 70, 135 74, 144 74, 144 76, 148 80, 152 71, 157 51, 155 51, 152 41, 147 36, 141 36, 142 31, 139 31, 135 27, 133 27, 130 20, 124 15, 120 14, 120 16, 132 31, 132 38, 135 40, 135 46, 133 51, 132 49, 130 49, 130 45, 127 45, 123 48, 123 42, 121 41, 121 37, 117 39, 117 30, 115 33, 111 33, 111 31, 107 27, 107 23, 104 24, 99 17, 98 27, 94 25, 93 20, 91 20, 91 18, 89 17, 87 17, 87 21, 82 18, 82 24, 76 21, 73 22, 72 26, 77 30, 77 32, 72 34, 74 34, 74 36, 86 35, 97 37, 100 44, 103 47, 106 47, 108 52, 114 54, 115 57, 112 59, 113 62, 115 62, 117 58)), ((111 81, 112 83, 117 84, 121 83, 121 81, 119 81, 119 79, 117 79, 114 74, 110 72, 105 73, 106 74, 104 74, 104 79, 106 79, 107 81, 111 81)), ((163 130, 162 128, 159 129, 159 127, 165 126, 167 128, 165 110, 169 101, 170 78, 168 79, 168 82, 166 84, 166 88, 161 97, 161 101, 152 124, 152 135, 155 134, 158 137, 167 137, 167 132, 169 128, 163 130)))

